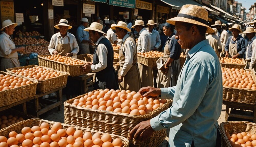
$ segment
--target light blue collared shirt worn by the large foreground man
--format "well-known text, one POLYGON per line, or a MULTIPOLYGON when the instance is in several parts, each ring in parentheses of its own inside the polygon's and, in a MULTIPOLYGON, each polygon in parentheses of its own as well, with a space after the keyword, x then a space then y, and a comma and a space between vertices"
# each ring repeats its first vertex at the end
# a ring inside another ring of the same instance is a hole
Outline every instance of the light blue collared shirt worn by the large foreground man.
POLYGON ((215 147, 222 108, 222 73, 208 40, 188 51, 177 85, 161 88, 173 105, 150 120, 154 130, 170 128, 169 146, 215 147))

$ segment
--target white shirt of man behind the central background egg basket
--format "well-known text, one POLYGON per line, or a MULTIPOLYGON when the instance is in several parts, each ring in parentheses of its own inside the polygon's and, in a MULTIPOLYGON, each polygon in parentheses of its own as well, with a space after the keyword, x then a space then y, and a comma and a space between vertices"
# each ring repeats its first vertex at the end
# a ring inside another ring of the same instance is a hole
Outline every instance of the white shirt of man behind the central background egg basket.
POLYGON ((139 33, 139 38, 137 40, 137 52, 145 53, 150 51, 150 34, 149 32, 143 28, 139 33))

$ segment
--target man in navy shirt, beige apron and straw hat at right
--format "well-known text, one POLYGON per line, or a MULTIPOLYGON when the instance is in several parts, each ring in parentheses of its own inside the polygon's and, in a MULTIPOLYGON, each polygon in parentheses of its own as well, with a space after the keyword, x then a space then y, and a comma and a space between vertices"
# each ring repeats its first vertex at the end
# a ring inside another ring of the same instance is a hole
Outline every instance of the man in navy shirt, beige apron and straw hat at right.
POLYGON ((234 24, 229 28, 233 36, 230 36, 225 45, 225 56, 230 58, 243 58, 245 50, 244 38, 239 35, 241 33, 240 25, 234 24))

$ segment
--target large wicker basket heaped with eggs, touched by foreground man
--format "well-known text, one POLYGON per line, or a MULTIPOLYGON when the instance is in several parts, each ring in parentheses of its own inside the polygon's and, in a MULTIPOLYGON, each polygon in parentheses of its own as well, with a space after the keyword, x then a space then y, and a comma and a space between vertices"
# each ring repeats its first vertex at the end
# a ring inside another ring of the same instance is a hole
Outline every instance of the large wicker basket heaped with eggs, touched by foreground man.
MULTIPOLYGON (((172 100, 142 97, 129 90, 96 90, 64 102, 65 123, 105 133, 130 137, 141 121, 149 120, 172 105, 172 100)), ((130 140, 132 146, 159 146, 166 129, 154 131, 145 142, 130 140)))

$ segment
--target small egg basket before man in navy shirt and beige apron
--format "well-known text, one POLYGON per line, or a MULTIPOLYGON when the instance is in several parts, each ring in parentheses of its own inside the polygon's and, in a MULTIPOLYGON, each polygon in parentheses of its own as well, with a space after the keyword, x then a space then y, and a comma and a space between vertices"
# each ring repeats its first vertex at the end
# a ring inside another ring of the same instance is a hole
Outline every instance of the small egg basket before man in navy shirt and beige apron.
POLYGON ((221 67, 238 68, 238 69, 244 69, 244 67, 246 66, 246 62, 243 58, 233 59, 233 58, 221 57, 220 64, 221 64, 221 67))

